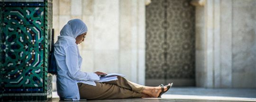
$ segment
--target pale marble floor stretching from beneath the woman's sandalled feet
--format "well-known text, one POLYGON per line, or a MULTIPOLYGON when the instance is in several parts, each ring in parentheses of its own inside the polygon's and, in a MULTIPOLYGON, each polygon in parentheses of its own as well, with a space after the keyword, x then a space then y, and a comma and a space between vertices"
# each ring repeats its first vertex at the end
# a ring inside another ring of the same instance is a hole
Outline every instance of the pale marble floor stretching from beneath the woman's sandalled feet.
MULTIPOLYGON (((56 92, 48 102, 59 100, 56 92)), ((67 101, 65 101, 67 102, 67 101)), ((81 100, 80 102, 256 102, 256 89, 172 88, 162 98, 81 100)))

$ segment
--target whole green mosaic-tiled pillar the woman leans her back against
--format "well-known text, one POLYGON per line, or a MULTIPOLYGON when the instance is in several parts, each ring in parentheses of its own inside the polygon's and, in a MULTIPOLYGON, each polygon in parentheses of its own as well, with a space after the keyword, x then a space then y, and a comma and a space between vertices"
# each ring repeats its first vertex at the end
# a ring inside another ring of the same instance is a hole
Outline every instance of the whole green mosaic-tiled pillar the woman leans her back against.
POLYGON ((1 100, 46 100, 52 0, 7 1, 0 4, 1 100))

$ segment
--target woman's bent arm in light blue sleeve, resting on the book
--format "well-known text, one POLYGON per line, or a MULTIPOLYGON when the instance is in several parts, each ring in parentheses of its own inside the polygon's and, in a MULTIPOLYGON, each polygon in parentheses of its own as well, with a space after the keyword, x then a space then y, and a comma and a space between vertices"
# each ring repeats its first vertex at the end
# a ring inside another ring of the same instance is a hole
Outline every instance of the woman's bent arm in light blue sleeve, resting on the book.
POLYGON ((66 66, 68 68, 68 76, 75 80, 84 80, 84 81, 98 81, 100 80, 99 76, 95 73, 86 73, 82 72, 79 69, 78 65, 78 53, 76 46, 68 46, 65 48, 66 54, 66 66))

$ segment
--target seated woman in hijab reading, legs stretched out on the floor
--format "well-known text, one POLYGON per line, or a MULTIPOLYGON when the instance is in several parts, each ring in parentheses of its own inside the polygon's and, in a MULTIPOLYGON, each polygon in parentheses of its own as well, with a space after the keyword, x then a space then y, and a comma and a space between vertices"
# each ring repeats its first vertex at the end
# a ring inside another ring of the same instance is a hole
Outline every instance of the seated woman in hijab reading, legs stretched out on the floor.
POLYGON ((82 57, 77 44, 84 41, 87 26, 80 19, 73 19, 62 28, 55 43, 57 63, 57 93, 61 99, 122 99, 161 97, 171 84, 149 87, 128 81, 122 76, 118 80, 97 82, 103 72, 81 71, 82 57))

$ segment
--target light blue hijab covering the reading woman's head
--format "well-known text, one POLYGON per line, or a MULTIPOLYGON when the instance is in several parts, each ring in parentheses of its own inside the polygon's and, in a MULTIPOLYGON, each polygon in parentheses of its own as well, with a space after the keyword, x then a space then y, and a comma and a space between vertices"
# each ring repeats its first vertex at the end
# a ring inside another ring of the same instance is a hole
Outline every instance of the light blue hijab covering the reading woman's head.
POLYGON ((69 36, 76 38, 77 36, 86 33, 87 26, 80 19, 72 19, 61 29, 61 36, 69 36))

